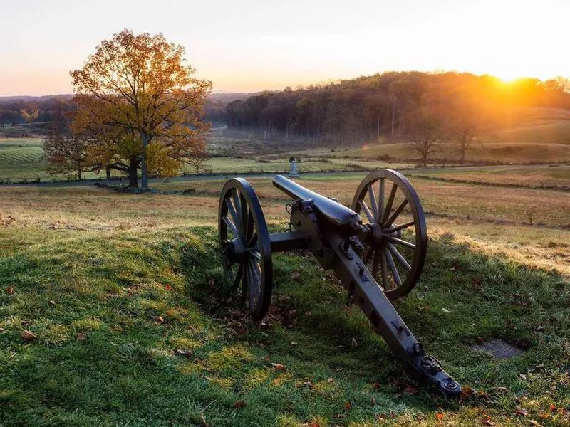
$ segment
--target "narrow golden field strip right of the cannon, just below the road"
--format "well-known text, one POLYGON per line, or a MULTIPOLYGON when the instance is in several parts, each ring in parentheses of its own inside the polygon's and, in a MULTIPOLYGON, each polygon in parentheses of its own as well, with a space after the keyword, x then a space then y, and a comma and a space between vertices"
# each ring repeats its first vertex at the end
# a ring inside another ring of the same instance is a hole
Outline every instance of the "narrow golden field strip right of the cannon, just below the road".
POLYGON ((504 167, 468 167, 418 170, 408 174, 430 176, 438 179, 480 182, 482 184, 520 185, 570 189, 570 165, 533 165, 504 167))

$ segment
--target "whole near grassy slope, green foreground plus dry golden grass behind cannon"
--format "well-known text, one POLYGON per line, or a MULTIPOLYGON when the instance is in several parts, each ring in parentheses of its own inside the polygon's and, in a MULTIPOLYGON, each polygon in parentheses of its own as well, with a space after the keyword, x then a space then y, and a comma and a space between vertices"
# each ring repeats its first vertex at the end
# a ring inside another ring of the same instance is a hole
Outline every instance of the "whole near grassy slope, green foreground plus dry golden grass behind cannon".
MULTIPOLYGON (((348 201, 362 177, 302 183, 348 201)), ((286 228, 284 196, 252 182, 271 228, 286 228)), ((220 304, 222 181, 157 185, 212 196, 0 187, 0 424, 569 425, 569 194, 413 183, 430 248, 396 305, 462 382, 460 401, 403 374, 309 256, 275 256, 266 322, 220 304), (481 339, 525 352, 494 359, 481 339)))

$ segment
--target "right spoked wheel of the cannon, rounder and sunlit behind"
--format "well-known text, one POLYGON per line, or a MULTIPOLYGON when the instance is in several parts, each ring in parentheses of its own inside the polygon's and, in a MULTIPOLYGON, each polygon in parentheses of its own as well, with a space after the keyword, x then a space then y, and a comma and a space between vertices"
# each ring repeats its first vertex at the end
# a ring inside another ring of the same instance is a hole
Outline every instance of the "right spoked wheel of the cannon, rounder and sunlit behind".
POLYGON ((390 300, 403 297, 420 278, 427 250, 425 216, 418 194, 399 172, 379 169, 361 182, 353 211, 371 232, 363 235, 363 260, 390 300))

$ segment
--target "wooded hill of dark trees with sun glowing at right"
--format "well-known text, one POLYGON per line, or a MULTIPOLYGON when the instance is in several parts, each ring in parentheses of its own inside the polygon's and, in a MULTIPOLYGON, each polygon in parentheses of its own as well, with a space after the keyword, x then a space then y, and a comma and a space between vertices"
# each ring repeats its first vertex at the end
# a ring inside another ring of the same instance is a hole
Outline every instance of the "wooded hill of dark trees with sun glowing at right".
POLYGON ((567 90, 561 78, 505 84, 470 73, 390 72, 235 100, 226 120, 229 127, 318 144, 406 138, 425 163, 442 139, 455 140, 465 159, 470 144, 507 120, 513 107, 570 109, 567 90))

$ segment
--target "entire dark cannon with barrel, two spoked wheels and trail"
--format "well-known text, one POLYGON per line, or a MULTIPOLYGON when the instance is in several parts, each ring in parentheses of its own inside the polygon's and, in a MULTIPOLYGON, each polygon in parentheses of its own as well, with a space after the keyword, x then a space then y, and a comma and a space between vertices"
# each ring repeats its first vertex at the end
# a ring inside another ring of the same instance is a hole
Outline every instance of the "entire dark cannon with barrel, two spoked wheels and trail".
POLYGON ((219 201, 219 246, 226 290, 241 295, 253 320, 269 310, 274 252, 307 250, 332 269, 404 367, 447 396, 460 384, 428 355, 390 301, 413 289, 427 250, 425 216, 410 181, 380 169, 361 182, 351 208, 285 176, 273 184, 293 200, 289 230, 269 233, 259 199, 242 178, 228 179, 219 201))

